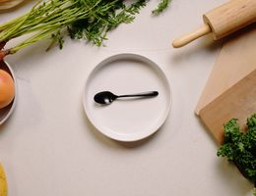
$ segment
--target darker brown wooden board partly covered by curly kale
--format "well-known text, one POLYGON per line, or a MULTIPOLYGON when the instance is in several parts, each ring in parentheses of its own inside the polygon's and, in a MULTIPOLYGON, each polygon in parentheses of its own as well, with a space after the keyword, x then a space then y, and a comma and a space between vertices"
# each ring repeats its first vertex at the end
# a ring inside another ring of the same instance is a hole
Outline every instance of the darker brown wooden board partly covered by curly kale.
POLYGON ((256 112, 256 70, 235 83, 203 108, 199 116, 218 143, 224 139, 224 123, 238 119, 241 125, 256 112))

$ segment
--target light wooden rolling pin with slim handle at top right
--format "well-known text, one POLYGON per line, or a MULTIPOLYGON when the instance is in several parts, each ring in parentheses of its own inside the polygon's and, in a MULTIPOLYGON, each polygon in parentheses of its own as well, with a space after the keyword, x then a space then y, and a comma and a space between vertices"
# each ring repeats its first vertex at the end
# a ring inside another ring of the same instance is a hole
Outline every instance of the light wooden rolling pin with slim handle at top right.
POLYGON ((172 42, 174 48, 212 33, 214 40, 256 22, 256 0, 231 0, 203 16, 204 25, 172 42))

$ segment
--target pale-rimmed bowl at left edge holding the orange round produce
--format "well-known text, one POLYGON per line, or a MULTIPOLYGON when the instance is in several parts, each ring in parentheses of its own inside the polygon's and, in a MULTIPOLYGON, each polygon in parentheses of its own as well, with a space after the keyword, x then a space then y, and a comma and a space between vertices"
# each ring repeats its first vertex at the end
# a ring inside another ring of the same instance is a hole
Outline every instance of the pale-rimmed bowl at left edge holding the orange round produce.
POLYGON ((0 69, 10 73, 14 79, 15 84, 15 98, 11 104, 5 108, 0 109, 0 125, 5 123, 14 111, 17 100, 17 81, 12 68, 4 61, 0 61, 0 69))

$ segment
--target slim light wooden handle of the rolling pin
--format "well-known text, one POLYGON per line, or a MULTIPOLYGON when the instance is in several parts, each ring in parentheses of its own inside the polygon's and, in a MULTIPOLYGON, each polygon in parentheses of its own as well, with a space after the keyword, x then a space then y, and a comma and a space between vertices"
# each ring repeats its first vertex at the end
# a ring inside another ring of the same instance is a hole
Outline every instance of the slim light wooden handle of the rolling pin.
POLYGON ((187 45, 188 43, 194 41, 195 39, 210 33, 211 31, 212 31, 211 27, 209 25, 205 24, 202 27, 200 27, 198 30, 193 31, 189 34, 183 35, 183 36, 173 40, 172 46, 173 46, 173 48, 180 48, 180 47, 187 45))

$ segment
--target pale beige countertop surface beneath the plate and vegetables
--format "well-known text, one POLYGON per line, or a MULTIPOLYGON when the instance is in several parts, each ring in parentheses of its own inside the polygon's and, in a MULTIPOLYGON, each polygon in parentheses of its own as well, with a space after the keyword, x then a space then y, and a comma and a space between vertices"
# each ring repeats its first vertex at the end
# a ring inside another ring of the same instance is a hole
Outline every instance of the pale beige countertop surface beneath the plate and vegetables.
MULTIPOLYGON (((151 1, 133 24, 108 34, 106 47, 67 38, 62 50, 45 52, 48 42, 43 41, 9 56, 18 81, 16 109, 0 127, 9 196, 251 195, 253 185, 217 157, 216 143, 194 115, 221 42, 206 36, 181 49, 170 46, 222 3, 173 0, 165 13, 152 17, 158 1, 151 1), (83 110, 87 76, 119 53, 153 60, 171 86, 169 116, 144 141, 122 143, 103 136, 83 110)), ((30 1, 1 13, 0 23, 31 7, 30 1)))

